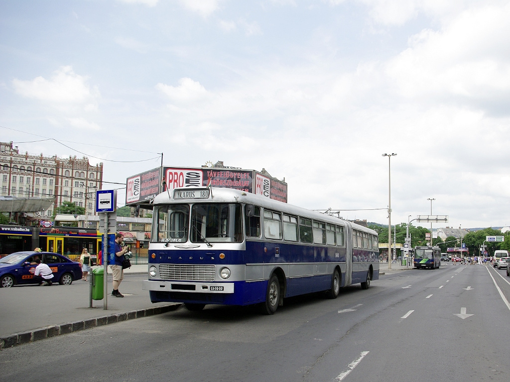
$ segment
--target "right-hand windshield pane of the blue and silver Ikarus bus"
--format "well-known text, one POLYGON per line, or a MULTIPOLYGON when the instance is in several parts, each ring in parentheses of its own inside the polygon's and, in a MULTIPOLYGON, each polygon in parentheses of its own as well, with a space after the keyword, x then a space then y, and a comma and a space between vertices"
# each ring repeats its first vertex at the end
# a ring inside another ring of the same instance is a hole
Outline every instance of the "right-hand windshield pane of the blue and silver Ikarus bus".
POLYGON ((191 242, 241 242, 241 205, 195 204, 191 208, 191 242))

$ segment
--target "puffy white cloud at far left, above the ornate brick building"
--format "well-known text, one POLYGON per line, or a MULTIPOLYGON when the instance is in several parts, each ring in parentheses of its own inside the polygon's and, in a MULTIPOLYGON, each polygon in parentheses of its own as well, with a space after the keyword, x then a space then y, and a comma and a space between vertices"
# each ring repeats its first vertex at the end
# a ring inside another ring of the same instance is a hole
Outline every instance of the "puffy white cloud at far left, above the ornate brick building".
POLYGON ((80 106, 84 110, 95 110, 99 90, 88 84, 88 77, 74 73, 72 67, 62 66, 50 79, 42 76, 33 80, 13 79, 16 93, 53 104, 56 107, 80 106))

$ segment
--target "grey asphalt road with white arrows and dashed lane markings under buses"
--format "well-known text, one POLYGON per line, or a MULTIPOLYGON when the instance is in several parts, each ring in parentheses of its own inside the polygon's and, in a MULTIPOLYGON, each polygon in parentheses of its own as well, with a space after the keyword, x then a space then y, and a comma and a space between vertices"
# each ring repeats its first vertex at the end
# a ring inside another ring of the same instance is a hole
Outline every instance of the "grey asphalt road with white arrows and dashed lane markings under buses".
POLYGON ((444 264, 335 300, 287 299, 273 316, 182 307, 4 349, 0 380, 33 378, 37 365, 38 379, 55 381, 506 382, 509 281, 490 266, 444 264))

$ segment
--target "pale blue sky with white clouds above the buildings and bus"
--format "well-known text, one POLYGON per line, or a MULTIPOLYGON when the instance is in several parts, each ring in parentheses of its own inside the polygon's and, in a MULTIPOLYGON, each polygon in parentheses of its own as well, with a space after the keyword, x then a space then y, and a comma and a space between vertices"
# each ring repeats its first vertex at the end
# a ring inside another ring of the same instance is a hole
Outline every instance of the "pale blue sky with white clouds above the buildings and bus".
POLYGON ((265 168, 291 204, 386 224, 397 153, 393 224, 434 198, 446 226, 510 225, 508 19, 508 0, 4 1, 0 141, 119 183, 158 153, 265 168))

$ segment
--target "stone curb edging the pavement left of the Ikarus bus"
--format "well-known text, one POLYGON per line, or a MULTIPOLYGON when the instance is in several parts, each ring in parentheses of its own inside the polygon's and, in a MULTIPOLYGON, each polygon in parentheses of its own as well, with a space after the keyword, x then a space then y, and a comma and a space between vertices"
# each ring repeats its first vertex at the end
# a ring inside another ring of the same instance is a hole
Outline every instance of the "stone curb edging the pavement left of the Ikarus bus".
POLYGON ((167 313, 176 310, 181 305, 182 304, 172 304, 155 308, 133 310, 126 313, 114 313, 107 316, 88 318, 82 321, 65 322, 60 325, 43 326, 39 329, 13 333, 8 336, 0 337, 0 349, 21 345, 23 343, 39 341, 45 338, 56 337, 63 334, 69 334, 72 332, 92 329, 96 326, 109 325, 115 322, 167 313))

